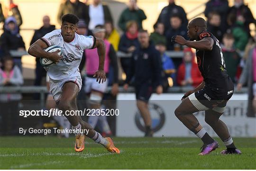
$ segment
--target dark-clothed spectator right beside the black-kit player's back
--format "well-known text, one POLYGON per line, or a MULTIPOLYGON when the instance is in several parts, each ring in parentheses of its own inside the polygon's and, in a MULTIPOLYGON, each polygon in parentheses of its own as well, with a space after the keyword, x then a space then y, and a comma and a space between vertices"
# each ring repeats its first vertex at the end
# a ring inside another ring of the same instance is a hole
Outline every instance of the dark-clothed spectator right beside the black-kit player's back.
POLYGON ((240 55, 238 52, 233 48, 234 45, 234 36, 232 34, 226 33, 223 36, 223 43, 224 46, 222 48, 222 53, 224 57, 224 61, 226 64, 226 69, 228 72, 229 77, 232 79, 234 83, 237 82, 237 72, 239 71, 239 63, 240 63, 240 55))

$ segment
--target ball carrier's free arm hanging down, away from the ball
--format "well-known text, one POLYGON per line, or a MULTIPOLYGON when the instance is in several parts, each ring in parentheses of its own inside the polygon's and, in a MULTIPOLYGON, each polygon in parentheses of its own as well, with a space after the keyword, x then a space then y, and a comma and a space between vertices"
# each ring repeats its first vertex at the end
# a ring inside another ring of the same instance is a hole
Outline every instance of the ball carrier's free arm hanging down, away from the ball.
POLYGON ((106 53, 106 48, 104 41, 100 38, 95 37, 95 46, 94 48, 97 48, 98 51, 98 56, 99 56, 99 69, 98 71, 95 72, 94 77, 97 78, 97 82, 103 83, 106 81, 106 74, 104 72, 104 62, 105 62, 105 53, 106 53))

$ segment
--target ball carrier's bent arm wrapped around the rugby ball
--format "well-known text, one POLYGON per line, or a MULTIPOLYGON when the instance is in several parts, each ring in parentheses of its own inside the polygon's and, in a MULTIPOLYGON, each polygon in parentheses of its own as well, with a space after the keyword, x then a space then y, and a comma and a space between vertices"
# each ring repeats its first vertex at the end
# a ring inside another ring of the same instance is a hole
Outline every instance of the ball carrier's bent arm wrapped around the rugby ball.
POLYGON ((53 53, 49 53, 44 51, 43 49, 47 48, 47 45, 45 42, 43 42, 42 40, 38 39, 35 43, 33 43, 29 48, 27 53, 35 56, 37 58, 46 58, 46 59, 50 59, 53 62, 59 62, 60 58, 62 56, 59 56, 58 53, 60 51, 55 51, 53 53))

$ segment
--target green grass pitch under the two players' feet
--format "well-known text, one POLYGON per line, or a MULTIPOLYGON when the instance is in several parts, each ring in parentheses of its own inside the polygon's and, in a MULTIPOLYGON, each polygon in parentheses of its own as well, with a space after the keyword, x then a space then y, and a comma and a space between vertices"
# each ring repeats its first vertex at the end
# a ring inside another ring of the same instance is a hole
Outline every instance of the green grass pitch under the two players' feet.
POLYGON ((75 153, 74 137, 0 137, 0 169, 256 169, 256 139, 234 138, 242 155, 199 156, 197 138, 114 138, 121 153, 86 139, 75 153))

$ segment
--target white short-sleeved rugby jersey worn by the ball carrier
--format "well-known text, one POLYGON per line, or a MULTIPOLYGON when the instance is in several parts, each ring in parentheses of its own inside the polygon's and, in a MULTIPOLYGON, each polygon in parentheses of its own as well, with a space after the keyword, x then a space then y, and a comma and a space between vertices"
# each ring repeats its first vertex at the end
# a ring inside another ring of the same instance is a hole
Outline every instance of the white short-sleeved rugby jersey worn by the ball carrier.
POLYGON ((72 42, 64 42, 61 29, 56 29, 40 39, 48 46, 58 45, 63 48, 63 57, 60 62, 45 67, 50 79, 54 81, 62 81, 80 74, 78 67, 82 60, 83 50, 91 49, 94 45, 93 36, 82 36, 77 33, 72 42))

